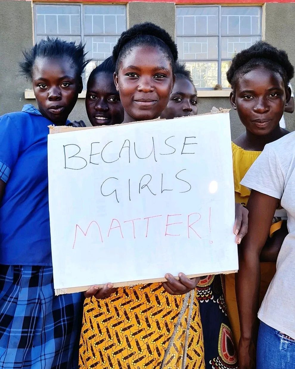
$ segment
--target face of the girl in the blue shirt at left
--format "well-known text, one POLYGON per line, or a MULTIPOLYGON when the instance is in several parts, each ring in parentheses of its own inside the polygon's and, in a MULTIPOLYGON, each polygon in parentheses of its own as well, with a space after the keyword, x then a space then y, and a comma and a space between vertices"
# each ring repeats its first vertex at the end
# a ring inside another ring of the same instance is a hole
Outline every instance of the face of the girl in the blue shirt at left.
POLYGON ((73 61, 38 57, 32 68, 32 83, 41 114, 56 125, 65 125, 83 88, 73 61))

